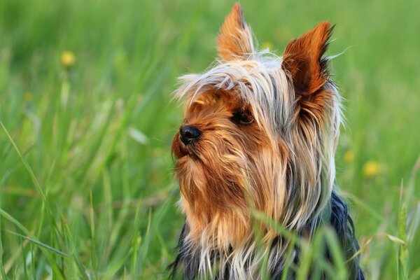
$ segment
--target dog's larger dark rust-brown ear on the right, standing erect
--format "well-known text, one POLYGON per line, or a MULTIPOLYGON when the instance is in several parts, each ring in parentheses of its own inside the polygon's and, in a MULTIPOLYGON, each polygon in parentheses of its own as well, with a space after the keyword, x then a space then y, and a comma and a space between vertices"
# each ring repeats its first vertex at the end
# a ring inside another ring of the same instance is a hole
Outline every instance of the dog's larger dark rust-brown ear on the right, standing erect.
POLYGON ((328 61, 323 54, 331 32, 330 22, 321 22, 288 43, 282 66, 293 78, 297 96, 313 94, 328 81, 328 61))

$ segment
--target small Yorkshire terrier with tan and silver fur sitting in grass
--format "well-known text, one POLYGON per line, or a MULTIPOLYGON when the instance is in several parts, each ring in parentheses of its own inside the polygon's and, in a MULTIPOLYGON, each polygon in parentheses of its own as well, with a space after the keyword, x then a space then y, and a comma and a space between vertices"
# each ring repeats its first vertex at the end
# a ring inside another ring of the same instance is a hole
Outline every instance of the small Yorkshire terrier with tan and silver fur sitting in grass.
MULTIPOLYGON (((260 279, 250 209, 308 239, 326 223, 344 258, 358 251, 346 204, 334 190, 342 114, 323 57, 331 31, 321 22, 276 57, 255 50, 237 3, 218 35, 217 64, 181 78, 176 98, 186 106, 172 152, 186 223, 172 278, 260 279)), ((299 265, 299 248, 289 250, 276 231, 258 227, 269 248, 266 269, 281 279, 288 251, 299 265)), ((347 265, 349 279, 364 279, 357 257, 347 265)))

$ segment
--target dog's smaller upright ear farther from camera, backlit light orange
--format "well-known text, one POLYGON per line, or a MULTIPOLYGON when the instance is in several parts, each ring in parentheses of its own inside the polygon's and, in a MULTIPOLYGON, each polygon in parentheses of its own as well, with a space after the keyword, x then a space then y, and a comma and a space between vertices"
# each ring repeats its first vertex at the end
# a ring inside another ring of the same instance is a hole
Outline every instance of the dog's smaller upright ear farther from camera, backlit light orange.
POLYGON ((254 52, 251 29, 239 3, 235 3, 219 31, 218 55, 222 60, 247 59, 254 52))

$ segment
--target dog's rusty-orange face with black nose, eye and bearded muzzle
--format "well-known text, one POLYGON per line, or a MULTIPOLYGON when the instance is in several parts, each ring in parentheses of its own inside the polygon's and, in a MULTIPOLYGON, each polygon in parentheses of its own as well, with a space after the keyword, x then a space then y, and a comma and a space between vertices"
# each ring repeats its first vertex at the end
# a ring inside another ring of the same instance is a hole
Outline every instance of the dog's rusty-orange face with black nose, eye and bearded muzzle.
POLYGON ((188 106, 174 137, 183 196, 189 202, 199 202, 196 207, 206 207, 207 211, 246 207, 249 165, 260 148, 268 145, 251 106, 239 92, 203 92, 188 106))

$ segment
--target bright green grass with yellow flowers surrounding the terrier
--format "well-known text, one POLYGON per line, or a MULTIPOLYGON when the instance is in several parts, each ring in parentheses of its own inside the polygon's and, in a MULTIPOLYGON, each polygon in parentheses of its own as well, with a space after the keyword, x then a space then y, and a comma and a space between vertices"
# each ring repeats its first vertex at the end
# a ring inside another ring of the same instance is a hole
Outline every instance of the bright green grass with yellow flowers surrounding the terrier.
MULTIPOLYGON (((332 62, 347 100, 337 180, 362 263, 368 279, 420 279, 419 4, 260 2, 241 4, 279 55, 321 20, 337 24, 329 53, 348 48, 332 62), (369 161, 379 171, 367 176, 369 161)), ((0 279, 167 277, 183 223, 170 95, 216 57, 232 4, 1 1, 0 279)))

